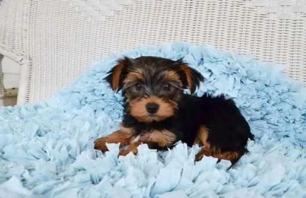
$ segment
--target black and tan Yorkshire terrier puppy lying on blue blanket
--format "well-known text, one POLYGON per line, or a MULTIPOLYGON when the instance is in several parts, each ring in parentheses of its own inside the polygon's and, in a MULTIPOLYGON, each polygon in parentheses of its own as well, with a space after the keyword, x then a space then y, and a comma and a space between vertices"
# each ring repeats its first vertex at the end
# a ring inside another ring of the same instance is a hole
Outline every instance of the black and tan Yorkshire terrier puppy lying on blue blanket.
POLYGON ((253 135, 234 101, 224 95, 185 94, 186 88, 193 94, 205 79, 181 59, 124 57, 105 80, 114 91, 122 90, 124 116, 118 131, 94 141, 96 150, 120 143, 119 155, 136 155, 142 143, 163 150, 181 140, 201 146, 196 161, 212 156, 218 162, 230 160, 231 167, 248 152, 253 135))

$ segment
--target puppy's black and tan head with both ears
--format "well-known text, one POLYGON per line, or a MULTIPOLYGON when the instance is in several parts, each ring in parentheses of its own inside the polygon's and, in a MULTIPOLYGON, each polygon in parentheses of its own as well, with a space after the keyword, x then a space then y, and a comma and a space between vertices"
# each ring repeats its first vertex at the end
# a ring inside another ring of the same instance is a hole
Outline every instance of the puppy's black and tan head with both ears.
POLYGON ((193 94, 204 78, 182 60, 143 56, 118 60, 105 80, 114 91, 122 89, 133 117, 152 122, 171 117, 183 89, 193 94))

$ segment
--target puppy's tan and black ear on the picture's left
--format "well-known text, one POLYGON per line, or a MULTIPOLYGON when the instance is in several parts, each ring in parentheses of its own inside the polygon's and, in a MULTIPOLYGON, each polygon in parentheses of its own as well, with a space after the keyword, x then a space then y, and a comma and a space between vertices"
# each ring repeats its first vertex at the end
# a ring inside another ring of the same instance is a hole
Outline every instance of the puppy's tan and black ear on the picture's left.
POLYGON ((108 76, 105 77, 105 81, 108 82, 110 87, 115 90, 120 90, 122 88, 122 82, 126 75, 126 68, 132 64, 132 59, 123 57, 117 61, 117 64, 108 71, 108 76))

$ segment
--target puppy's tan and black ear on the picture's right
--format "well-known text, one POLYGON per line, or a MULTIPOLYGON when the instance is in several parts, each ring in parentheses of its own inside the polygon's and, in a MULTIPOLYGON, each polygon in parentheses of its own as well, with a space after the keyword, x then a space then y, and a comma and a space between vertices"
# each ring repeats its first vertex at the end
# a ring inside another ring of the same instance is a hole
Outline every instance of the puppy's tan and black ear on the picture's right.
POLYGON ((182 59, 175 61, 174 63, 179 68, 179 73, 182 79, 184 88, 188 88, 190 93, 193 94, 195 90, 200 86, 200 83, 205 80, 200 72, 188 66, 182 59))

